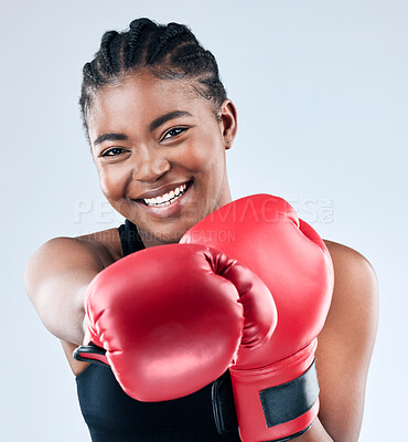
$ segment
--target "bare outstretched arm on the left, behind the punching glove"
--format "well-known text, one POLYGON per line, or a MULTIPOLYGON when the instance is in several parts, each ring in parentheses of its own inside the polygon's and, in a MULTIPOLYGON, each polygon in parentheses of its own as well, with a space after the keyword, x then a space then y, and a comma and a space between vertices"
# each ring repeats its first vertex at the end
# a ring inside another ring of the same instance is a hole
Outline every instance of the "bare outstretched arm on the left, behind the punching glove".
POLYGON ((86 287, 111 261, 101 243, 73 238, 50 240, 31 256, 24 272, 25 288, 53 335, 82 344, 86 287))

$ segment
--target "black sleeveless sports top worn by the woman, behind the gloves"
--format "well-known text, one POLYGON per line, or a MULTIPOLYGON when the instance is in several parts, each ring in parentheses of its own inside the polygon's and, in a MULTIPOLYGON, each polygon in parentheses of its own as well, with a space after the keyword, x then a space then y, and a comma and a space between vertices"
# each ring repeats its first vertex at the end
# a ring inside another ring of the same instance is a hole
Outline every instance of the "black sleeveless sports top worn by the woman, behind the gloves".
MULTIPOLYGON (((129 220, 119 227, 119 235, 124 256, 144 248, 129 220)), ((110 367, 97 364, 90 364, 76 377, 76 386, 93 442, 240 441, 230 411, 233 400, 227 372, 193 394, 163 402, 130 398, 110 367), (223 435, 216 427, 216 421, 223 421, 221 409, 225 427, 229 429, 223 435)))

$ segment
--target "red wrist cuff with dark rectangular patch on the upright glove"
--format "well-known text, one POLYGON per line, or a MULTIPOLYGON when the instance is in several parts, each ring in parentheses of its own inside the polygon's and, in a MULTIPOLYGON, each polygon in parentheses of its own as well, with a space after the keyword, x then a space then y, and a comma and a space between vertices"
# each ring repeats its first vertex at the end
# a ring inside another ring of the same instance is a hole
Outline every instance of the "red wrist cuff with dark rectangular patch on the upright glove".
POLYGON ((319 412, 315 347, 314 339, 296 355, 258 368, 256 373, 229 368, 243 440, 283 442, 309 430, 319 412))

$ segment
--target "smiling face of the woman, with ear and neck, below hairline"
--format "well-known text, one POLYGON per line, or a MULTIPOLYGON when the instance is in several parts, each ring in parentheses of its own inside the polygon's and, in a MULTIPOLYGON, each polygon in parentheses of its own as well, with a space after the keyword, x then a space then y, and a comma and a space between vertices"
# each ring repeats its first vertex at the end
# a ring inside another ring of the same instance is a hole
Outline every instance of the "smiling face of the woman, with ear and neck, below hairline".
POLYGON ((236 133, 230 101, 221 109, 187 81, 131 74, 98 92, 88 117, 100 188, 138 225, 147 246, 178 242, 230 201, 225 149, 236 133))

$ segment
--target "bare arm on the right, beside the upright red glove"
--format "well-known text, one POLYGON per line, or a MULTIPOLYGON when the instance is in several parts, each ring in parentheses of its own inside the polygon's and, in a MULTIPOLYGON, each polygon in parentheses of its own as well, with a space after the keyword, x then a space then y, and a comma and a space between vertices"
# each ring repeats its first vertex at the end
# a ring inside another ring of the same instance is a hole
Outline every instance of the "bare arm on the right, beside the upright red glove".
POLYGON ((353 249, 325 241, 334 264, 334 293, 319 335, 319 420, 301 442, 353 442, 363 420, 368 366, 377 330, 378 285, 368 261, 353 249))

